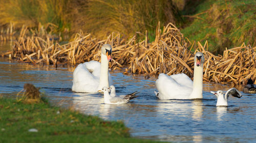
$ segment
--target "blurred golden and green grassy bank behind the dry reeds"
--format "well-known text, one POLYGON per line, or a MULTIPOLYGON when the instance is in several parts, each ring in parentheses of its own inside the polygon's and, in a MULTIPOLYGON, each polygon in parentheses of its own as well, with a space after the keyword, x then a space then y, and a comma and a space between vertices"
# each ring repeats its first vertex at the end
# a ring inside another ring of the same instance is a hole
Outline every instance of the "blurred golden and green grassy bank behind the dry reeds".
POLYGON ((255 11, 255 0, 10 0, 0 1, 0 27, 12 22, 35 29, 50 22, 56 25, 51 32, 62 32, 65 40, 82 30, 99 39, 113 32, 124 39, 136 34, 140 41, 147 31, 152 42, 158 21, 161 29, 172 22, 190 41, 207 40, 209 50, 221 54, 243 42, 256 45, 255 11))

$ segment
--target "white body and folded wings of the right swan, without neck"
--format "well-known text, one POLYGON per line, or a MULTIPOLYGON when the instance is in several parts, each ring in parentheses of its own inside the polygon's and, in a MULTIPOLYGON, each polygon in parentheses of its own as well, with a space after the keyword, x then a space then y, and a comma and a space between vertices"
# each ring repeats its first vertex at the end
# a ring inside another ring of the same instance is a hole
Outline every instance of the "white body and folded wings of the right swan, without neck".
POLYGON ((174 78, 160 73, 156 80, 156 87, 160 99, 187 99, 192 88, 179 84, 174 78))

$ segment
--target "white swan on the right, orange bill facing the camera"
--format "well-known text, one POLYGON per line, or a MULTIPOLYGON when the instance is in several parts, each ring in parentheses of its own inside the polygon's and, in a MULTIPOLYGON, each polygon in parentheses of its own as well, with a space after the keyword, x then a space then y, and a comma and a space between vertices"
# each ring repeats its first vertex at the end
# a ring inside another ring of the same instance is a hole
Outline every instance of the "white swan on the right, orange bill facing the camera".
POLYGON ((170 76, 160 73, 156 80, 156 96, 161 100, 203 98, 203 53, 197 52, 194 61, 194 82, 184 73, 170 76))

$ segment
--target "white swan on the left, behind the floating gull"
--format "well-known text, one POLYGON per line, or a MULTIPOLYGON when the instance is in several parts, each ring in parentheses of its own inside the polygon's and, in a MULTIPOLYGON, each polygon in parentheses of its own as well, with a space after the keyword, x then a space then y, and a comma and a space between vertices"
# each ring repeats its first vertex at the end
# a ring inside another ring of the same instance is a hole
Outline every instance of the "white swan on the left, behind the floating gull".
POLYGON ((73 73, 74 92, 96 93, 103 87, 112 85, 109 74, 109 62, 111 58, 111 45, 105 44, 101 47, 101 63, 90 61, 79 64, 73 73))

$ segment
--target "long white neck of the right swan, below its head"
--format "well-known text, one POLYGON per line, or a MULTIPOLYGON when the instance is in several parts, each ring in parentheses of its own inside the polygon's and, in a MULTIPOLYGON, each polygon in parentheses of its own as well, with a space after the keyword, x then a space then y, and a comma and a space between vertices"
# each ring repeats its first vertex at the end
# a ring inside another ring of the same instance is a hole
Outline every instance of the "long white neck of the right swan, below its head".
POLYGON ((189 98, 203 98, 203 64, 201 64, 199 67, 195 64, 193 91, 189 98))

